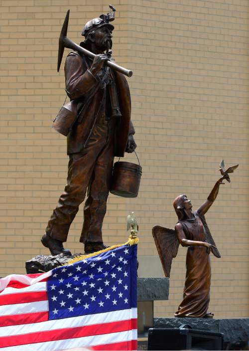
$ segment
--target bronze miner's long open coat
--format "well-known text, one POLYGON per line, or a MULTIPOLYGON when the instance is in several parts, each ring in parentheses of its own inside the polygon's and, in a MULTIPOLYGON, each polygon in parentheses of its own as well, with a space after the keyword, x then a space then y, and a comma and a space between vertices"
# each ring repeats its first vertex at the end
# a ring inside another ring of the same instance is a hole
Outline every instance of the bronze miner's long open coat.
MULTIPOLYGON (((70 100, 78 102, 79 117, 67 136, 67 154, 81 152, 91 135, 95 122, 101 113, 106 86, 101 86, 100 79, 89 70, 91 62, 74 51, 65 62, 66 91, 70 100), (84 107, 82 107, 84 106, 84 107)), ((121 123, 115 129, 115 156, 123 157, 128 134, 134 134, 130 121, 130 93, 123 74, 112 71, 117 86, 117 94, 122 114, 121 123)))

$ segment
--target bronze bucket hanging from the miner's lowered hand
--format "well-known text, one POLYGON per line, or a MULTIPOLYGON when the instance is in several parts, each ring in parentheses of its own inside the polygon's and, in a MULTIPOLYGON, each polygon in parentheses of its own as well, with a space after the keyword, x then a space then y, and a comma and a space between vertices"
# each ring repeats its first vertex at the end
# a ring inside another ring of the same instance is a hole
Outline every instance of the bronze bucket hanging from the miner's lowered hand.
POLYGON ((124 161, 115 162, 110 192, 122 197, 136 197, 139 190, 141 175, 142 168, 140 164, 136 165, 124 161))

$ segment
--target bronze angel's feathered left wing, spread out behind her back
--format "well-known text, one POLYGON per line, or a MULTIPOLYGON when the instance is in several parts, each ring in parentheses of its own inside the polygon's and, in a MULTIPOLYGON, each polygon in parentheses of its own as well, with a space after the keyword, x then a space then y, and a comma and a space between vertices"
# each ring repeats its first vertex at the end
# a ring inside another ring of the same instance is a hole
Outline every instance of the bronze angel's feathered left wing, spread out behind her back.
POLYGON ((164 228, 155 225, 152 228, 152 235, 162 263, 165 277, 169 277, 173 257, 177 255, 179 240, 174 229, 164 228))

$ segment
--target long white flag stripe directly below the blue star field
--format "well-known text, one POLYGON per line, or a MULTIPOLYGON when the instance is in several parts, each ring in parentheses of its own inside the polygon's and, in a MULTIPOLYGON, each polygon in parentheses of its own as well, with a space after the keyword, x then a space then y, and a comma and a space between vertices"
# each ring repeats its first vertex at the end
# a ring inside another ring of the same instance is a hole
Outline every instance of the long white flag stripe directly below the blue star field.
MULTIPOLYGON (((24 316, 25 318, 25 316, 28 316, 28 315, 24 314, 22 316, 24 316)), ((127 319, 136 319, 136 318, 137 318, 137 310, 136 308, 132 308, 128 310, 98 313, 96 315, 85 315, 85 316, 71 317, 71 318, 65 318, 65 319, 50 320, 43 323, 26 324, 25 329, 21 325, 2 327, 0 328, 0 337, 4 337, 6 335, 24 336, 25 335, 24 330, 26 333, 36 333, 36 332, 41 333, 47 330, 53 331, 56 329, 63 329, 63 328, 66 329, 66 328, 91 326, 93 325, 93 321, 95 324, 102 324, 102 323, 112 323, 116 321, 125 321, 127 319)))

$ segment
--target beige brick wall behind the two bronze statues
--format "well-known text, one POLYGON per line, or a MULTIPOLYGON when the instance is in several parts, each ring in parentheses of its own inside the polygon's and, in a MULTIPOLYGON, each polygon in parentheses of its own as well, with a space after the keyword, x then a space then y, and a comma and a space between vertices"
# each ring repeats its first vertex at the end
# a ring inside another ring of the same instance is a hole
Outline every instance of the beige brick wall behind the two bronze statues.
MULTIPOLYGON (((24 273, 25 260, 47 254, 40 244, 67 174, 66 140, 51 130, 64 101, 58 36, 68 8, 68 36, 81 41, 84 23, 107 11, 103 0, 0 2, 0 275, 24 273)), ((110 196, 107 243, 124 242, 126 215, 139 220, 139 274, 162 270, 154 224, 173 227, 172 202, 186 193, 194 206, 219 176, 219 162, 240 163, 207 214, 222 258, 212 257, 210 310, 249 316, 249 3, 245 0, 116 0, 114 56, 128 79, 132 120, 143 167, 139 196, 110 196)), ((66 50, 68 52, 68 50, 66 50)), ((65 57, 64 57, 65 59, 65 57)), ((63 60, 64 62, 64 60, 63 60)), ((125 160, 135 162, 134 156, 125 160)), ((83 206, 67 247, 78 242, 83 206)), ((186 249, 174 259, 170 300, 156 316, 172 316, 182 298, 186 249)))

